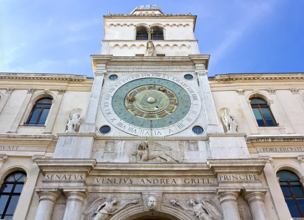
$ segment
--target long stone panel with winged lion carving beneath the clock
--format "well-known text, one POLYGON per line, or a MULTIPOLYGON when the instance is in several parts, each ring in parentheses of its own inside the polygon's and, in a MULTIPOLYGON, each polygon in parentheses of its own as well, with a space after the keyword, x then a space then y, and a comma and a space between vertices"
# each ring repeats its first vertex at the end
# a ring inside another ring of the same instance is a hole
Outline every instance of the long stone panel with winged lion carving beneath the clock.
MULTIPOLYGON (((204 145, 204 143, 202 143, 204 145)), ((205 149, 206 150, 206 149, 205 149)), ((92 158, 97 162, 162 162, 184 163, 193 159, 201 160, 197 140, 95 140, 92 158)), ((205 154, 204 154, 205 155, 205 154)))

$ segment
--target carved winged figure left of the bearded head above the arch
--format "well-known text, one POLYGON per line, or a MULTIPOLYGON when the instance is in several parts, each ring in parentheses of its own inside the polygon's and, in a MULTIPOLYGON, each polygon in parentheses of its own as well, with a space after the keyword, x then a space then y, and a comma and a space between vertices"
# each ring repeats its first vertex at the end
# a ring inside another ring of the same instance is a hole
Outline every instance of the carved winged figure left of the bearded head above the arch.
POLYGON ((84 220, 105 220, 109 215, 113 215, 120 212, 127 205, 137 204, 139 202, 138 200, 134 199, 118 208, 117 206, 119 204, 119 199, 114 197, 108 202, 105 201, 102 204, 98 205, 98 207, 96 208, 97 204, 100 203, 101 200, 103 200, 103 198, 96 199, 92 203, 92 205, 90 205, 90 207, 87 209, 87 211, 84 212, 84 220))

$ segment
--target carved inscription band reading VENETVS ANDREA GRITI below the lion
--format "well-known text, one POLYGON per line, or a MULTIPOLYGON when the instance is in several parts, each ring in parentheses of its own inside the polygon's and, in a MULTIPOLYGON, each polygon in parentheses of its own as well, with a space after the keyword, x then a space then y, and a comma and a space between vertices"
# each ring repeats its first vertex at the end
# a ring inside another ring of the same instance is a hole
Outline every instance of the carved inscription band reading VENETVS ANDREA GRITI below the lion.
POLYGON ((108 178, 95 177, 92 184, 110 185, 211 185, 215 178, 108 178))

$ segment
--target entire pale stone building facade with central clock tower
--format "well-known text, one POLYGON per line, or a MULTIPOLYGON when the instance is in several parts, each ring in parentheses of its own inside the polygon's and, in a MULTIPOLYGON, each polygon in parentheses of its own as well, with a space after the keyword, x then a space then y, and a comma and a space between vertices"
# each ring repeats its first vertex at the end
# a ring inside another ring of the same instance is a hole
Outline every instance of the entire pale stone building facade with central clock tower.
POLYGON ((0 183, 26 173, 13 219, 292 218, 277 172, 292 171, 303 182, 304 75, 208 79, 195 21, 156 6, 104 16, 94 79, 0 74, 0 183), (156 26, 163 40, 153 40, 156 26), (135 40, 142 27, 156 56, 137 56, 146 52, 147 40, 135 40), (154 109, 140 102, 137 86, 158 103, 154 109), (44 125, 29 126, 42 98, 51 100, 44 125), (267 103, 276 126, 258 124, 252 98, 267 103), (150 127, 137 126, 140 120, 150 127))

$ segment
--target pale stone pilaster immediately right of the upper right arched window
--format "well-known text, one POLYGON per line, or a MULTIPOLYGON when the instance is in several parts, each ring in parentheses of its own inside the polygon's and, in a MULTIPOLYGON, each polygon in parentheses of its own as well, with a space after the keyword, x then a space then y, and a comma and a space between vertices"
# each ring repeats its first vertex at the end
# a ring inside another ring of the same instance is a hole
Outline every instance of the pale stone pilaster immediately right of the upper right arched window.
POLYGON ((276 115, 275 112, 273 111, 273 109, 276 108, 276 110, 278 111, 278 114, 279 114, 278 117, 282 120, 287 134, 294 134, 294 130, 293 130, 292 125, 291 125, 291 123, 288 119, 288 116, 284 112, 284 109, 283 109, 283 107, 282 107, 282 105, 281 105, 281 103, 280 103, 280 101, 279 101, 279 99, 276 95, 276 90, 275 89, 267 89, 267 91, 269 92, 270 97, 273 100, 274 107, 271 106, 272 102, 268 103, 270 108, 272 109, 273 114, 276 115))

